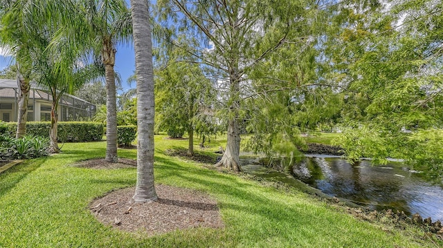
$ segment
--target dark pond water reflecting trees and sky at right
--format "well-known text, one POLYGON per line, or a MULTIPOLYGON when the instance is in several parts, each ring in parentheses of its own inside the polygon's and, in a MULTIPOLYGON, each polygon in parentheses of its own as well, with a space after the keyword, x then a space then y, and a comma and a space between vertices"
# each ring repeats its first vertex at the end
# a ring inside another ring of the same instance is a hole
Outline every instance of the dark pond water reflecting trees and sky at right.
POLYGON ((395 209, 443 220, 443 188, 432 185, 399 163, 351 165, 340 158, 306 158, 293 174, 327 195, 365 204, 372 209, 395 209))

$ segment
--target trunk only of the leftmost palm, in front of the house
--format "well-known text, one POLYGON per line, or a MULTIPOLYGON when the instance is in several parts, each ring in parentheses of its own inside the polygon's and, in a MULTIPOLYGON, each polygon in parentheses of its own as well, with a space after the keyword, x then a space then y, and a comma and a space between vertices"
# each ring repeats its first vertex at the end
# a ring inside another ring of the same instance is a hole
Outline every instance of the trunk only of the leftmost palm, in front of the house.
MULTIPOLYGON (((18 66, 17 66, 18 68, 18 66)), ((19 95, 19 113, 17 117, 17 133, 15 137, 23 137, 26 135, 26 119, 28 115, 28 102, 29 102, 29 90, 30 83, 29 79, 26 79, 19 73, 17 69, 17 83, 20 87, 19 95)))

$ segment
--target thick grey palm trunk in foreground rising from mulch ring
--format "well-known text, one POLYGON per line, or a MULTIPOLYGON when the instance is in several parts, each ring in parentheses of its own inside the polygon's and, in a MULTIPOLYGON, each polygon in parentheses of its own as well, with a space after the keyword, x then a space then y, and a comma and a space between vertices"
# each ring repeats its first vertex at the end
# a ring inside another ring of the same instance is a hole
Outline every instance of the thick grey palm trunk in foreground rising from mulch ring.
POLYGON ((131 0, 137 77, 137 182, 135 202, 157 200, 154 187, 154 68, 146 0, 131 0))

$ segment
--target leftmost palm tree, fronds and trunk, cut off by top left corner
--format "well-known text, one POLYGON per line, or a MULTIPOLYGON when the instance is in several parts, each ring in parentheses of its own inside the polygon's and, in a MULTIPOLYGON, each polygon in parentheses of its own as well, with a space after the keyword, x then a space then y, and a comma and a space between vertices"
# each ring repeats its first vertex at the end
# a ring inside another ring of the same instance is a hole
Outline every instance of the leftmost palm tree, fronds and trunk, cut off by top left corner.
POLYGON ((47 32, 48 27, 66 26, 70 21, 66 17, 74 16, 69 15, 75 13, 73 7, 72 0, 0 0, 0 44, 9 48, 17 66, 17 137, 26 134, 30 79, 37 66, 33 55, 39 35, 47 32))

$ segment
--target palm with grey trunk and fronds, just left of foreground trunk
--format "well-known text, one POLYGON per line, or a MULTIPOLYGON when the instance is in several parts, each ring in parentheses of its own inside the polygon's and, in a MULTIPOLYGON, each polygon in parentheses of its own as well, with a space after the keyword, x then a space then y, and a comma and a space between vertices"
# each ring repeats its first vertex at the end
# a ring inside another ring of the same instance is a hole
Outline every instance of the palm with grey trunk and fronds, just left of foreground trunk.
POLYGON ((80 4, 89 26, 93 53, 100 55, 105 65, 107 91, 105 160, 117 162, 115 46, 118 42, 129 42, 132 39, 131 12, 124 0, 82 0, 80 4))

